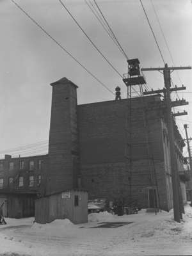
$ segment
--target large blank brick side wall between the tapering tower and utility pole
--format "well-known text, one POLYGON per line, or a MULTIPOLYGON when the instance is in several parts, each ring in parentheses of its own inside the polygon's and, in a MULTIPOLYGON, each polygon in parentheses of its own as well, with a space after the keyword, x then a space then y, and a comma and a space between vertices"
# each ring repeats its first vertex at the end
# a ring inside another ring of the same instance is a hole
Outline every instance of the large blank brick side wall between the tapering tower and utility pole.
POLYGON ((126 204, 132 193, 132 198, 143 207, 148 207, 147 188, 157 185, 159 204, 167 210, 162 113, 154 108, 159 99, 145 97, 143 100, 132 100, 131 120, 127 99, 77 106, 82 184, 88 189, 89 198, 105 197, 114 201, 123 197, 126 204), (130 156, 130 147, 127 146, 130 129, 133 143, 131 169, 127 159, 130 156), (147 137, 149 147, 145 143, 147 137), (154 164, 148 156, 154 159, 154 164))

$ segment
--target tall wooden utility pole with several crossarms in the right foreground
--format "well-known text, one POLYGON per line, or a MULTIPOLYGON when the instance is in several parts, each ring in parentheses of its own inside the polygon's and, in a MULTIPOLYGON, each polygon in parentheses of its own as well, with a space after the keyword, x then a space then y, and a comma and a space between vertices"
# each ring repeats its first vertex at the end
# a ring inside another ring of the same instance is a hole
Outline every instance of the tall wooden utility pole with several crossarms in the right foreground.
MULTIPOLYGON (((164 100, 166 103, 166 115, 167 115, 167 126, 168 126, 168 137, 170 140, 170 163, 171 163, 171 173, 172 173, 172 186, 173 186, 173 212, 174 212, 174 220, 177 222, 180 222, 180 219, 182 218, 182 207, 180 207, 180 184, 179 184, 179 173, 177 170, 177 159, 175 155, 175 138, 174 138, 174 129, 173 129, 173 115, 172 115, 172 107, 173 106, 182 106, 188 104, 185 100, 176 100, 176 102, 172 102, 170 93, 177 90, 184 90, 184 86, 177 88, 171 88, 171 77, 170 72, 171 70, 180 70, 180 69, 191 69, 191 67, 168 67, 167 64, 164 65, 164 67, 159 68, 141 68, 141 71, 151 71, 151 70, 157 70, 162 73, 163 71, 163 77, 164 77, 164 89, 163 90, 157 90, 159 93, 164 93, 164 100)), ((151 92, 144 92, 144 95, 148 94, 154 94, 157 93, 156 91, 151 92)), ((174 114, 174 116, 177 115, 186 115, 185 113, 178 113, 174 114)))

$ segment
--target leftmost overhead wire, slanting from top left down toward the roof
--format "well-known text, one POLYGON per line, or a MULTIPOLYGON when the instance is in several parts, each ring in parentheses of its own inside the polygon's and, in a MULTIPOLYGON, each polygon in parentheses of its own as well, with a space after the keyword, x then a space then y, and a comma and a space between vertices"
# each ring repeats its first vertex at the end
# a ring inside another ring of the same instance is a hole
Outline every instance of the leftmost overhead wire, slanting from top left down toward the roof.
POLYGON ((42 31, 44 31, 44 33, 49 36, 49 38, 51 38, 52 41, 54 41, 63 51, 65 51, 68 56, 70 56, 74 61, 76 61, 84 70, 86 70, 86 72, 88 72, 88 74, 90 74, 90 76, 92 76, 95 80, 97 80, 97 82, 99 82, 104 88, 106 88, 106 90, 108 90, 110 93, 112 93, 113 95, 115 95, 115 93, 113 93, 108 86, 106 86, 104 83, 102 83, 102 81, 100 81, 90 70, 88 70, 88 68, 84 67, 83 64, 81 64, 80 61, 78 61, 74 56, 72 56, 72 54, 70 54, 70 52, 67 51, 67 49, 65 49, 53 36, 51 36, 44 28, 42 28, 42 26, 40 26, 40 24, 38 24, 38 22, 36 22, 24 9, 22 9, 19 4, 17 4, 15 1, 12 1, 13 4, 15 4, 17 6, 17 8, 19 8, 31 21, 33 21, 33 23, 36 24, 36 26, 38 26, 38 28, 42 29, 42 31))

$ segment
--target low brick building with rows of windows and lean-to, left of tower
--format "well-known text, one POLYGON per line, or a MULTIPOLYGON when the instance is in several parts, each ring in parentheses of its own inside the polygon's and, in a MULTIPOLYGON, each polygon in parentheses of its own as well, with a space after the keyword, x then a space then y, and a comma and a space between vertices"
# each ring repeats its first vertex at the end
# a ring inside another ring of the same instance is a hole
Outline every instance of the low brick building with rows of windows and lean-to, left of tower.
POLYGON ((0 160, 0 206, 4 203, 4 216, 34 216, 46 163, 46 155, 17 158, 5 155, 0 160))

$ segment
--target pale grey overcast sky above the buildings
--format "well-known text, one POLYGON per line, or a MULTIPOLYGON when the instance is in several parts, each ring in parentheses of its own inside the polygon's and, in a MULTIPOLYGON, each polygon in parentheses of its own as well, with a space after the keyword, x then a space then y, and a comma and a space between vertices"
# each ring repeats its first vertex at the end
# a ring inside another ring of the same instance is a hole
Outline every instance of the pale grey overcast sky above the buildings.
MULTIPOLYGON (((72 56, 88 68, 111 91, 120 86, 126 97, 122 78, 88 42, 58 0, 15 0, 33 19, 53 36, 72 56)), ((63 0, 84 31, 120 74, 127 72, 127 61, 83 0, 63 0)), ((175 66, 192 65, 192 3, 190 0, 152 0, 173 56, 175 66)), ((143 5, 163 53, 172 66, 151 0, 143 5)), ((129 58, 139 58, 141 67, 163 67, 164 63, 147 23, 139 0, 97 0, 118 41, 129 58)), ((51 117, 49 84, 67 77, 77 84, 77 102, 84 104, 113 100, 114 95, 101 86, 76 61, 38 28, 10 0, 0 0, 0 156, 10 148, 29 145, 31 154, 47 152, 51 117), (31 144, 33 146, 30 146, 31 144)), ((145 72, 149 88, 163 88, 163 76, 157 71, 145 72)), ((172 73, 174 84, 184 84, 179 97, 192 103, 192 71, 172 73), (179 74, 179 75, 178 75, 179 74), (180 77, 180 79, 179 79, 180 77)), ((176 98, 175 93, 173 99, 176 98)), ((192 108, 188 116, 176 118, 182 136, 183 124, 189 124, 192 137, 192 108)), ((192 143, 192 142, 191 142, 192 143)), ((27 146, 28 147, 28 146, 27 146)), ((23 156, 20 149, 17 154, 23 156)), ((186 148, 184 150, 186 154, 186 148)))

